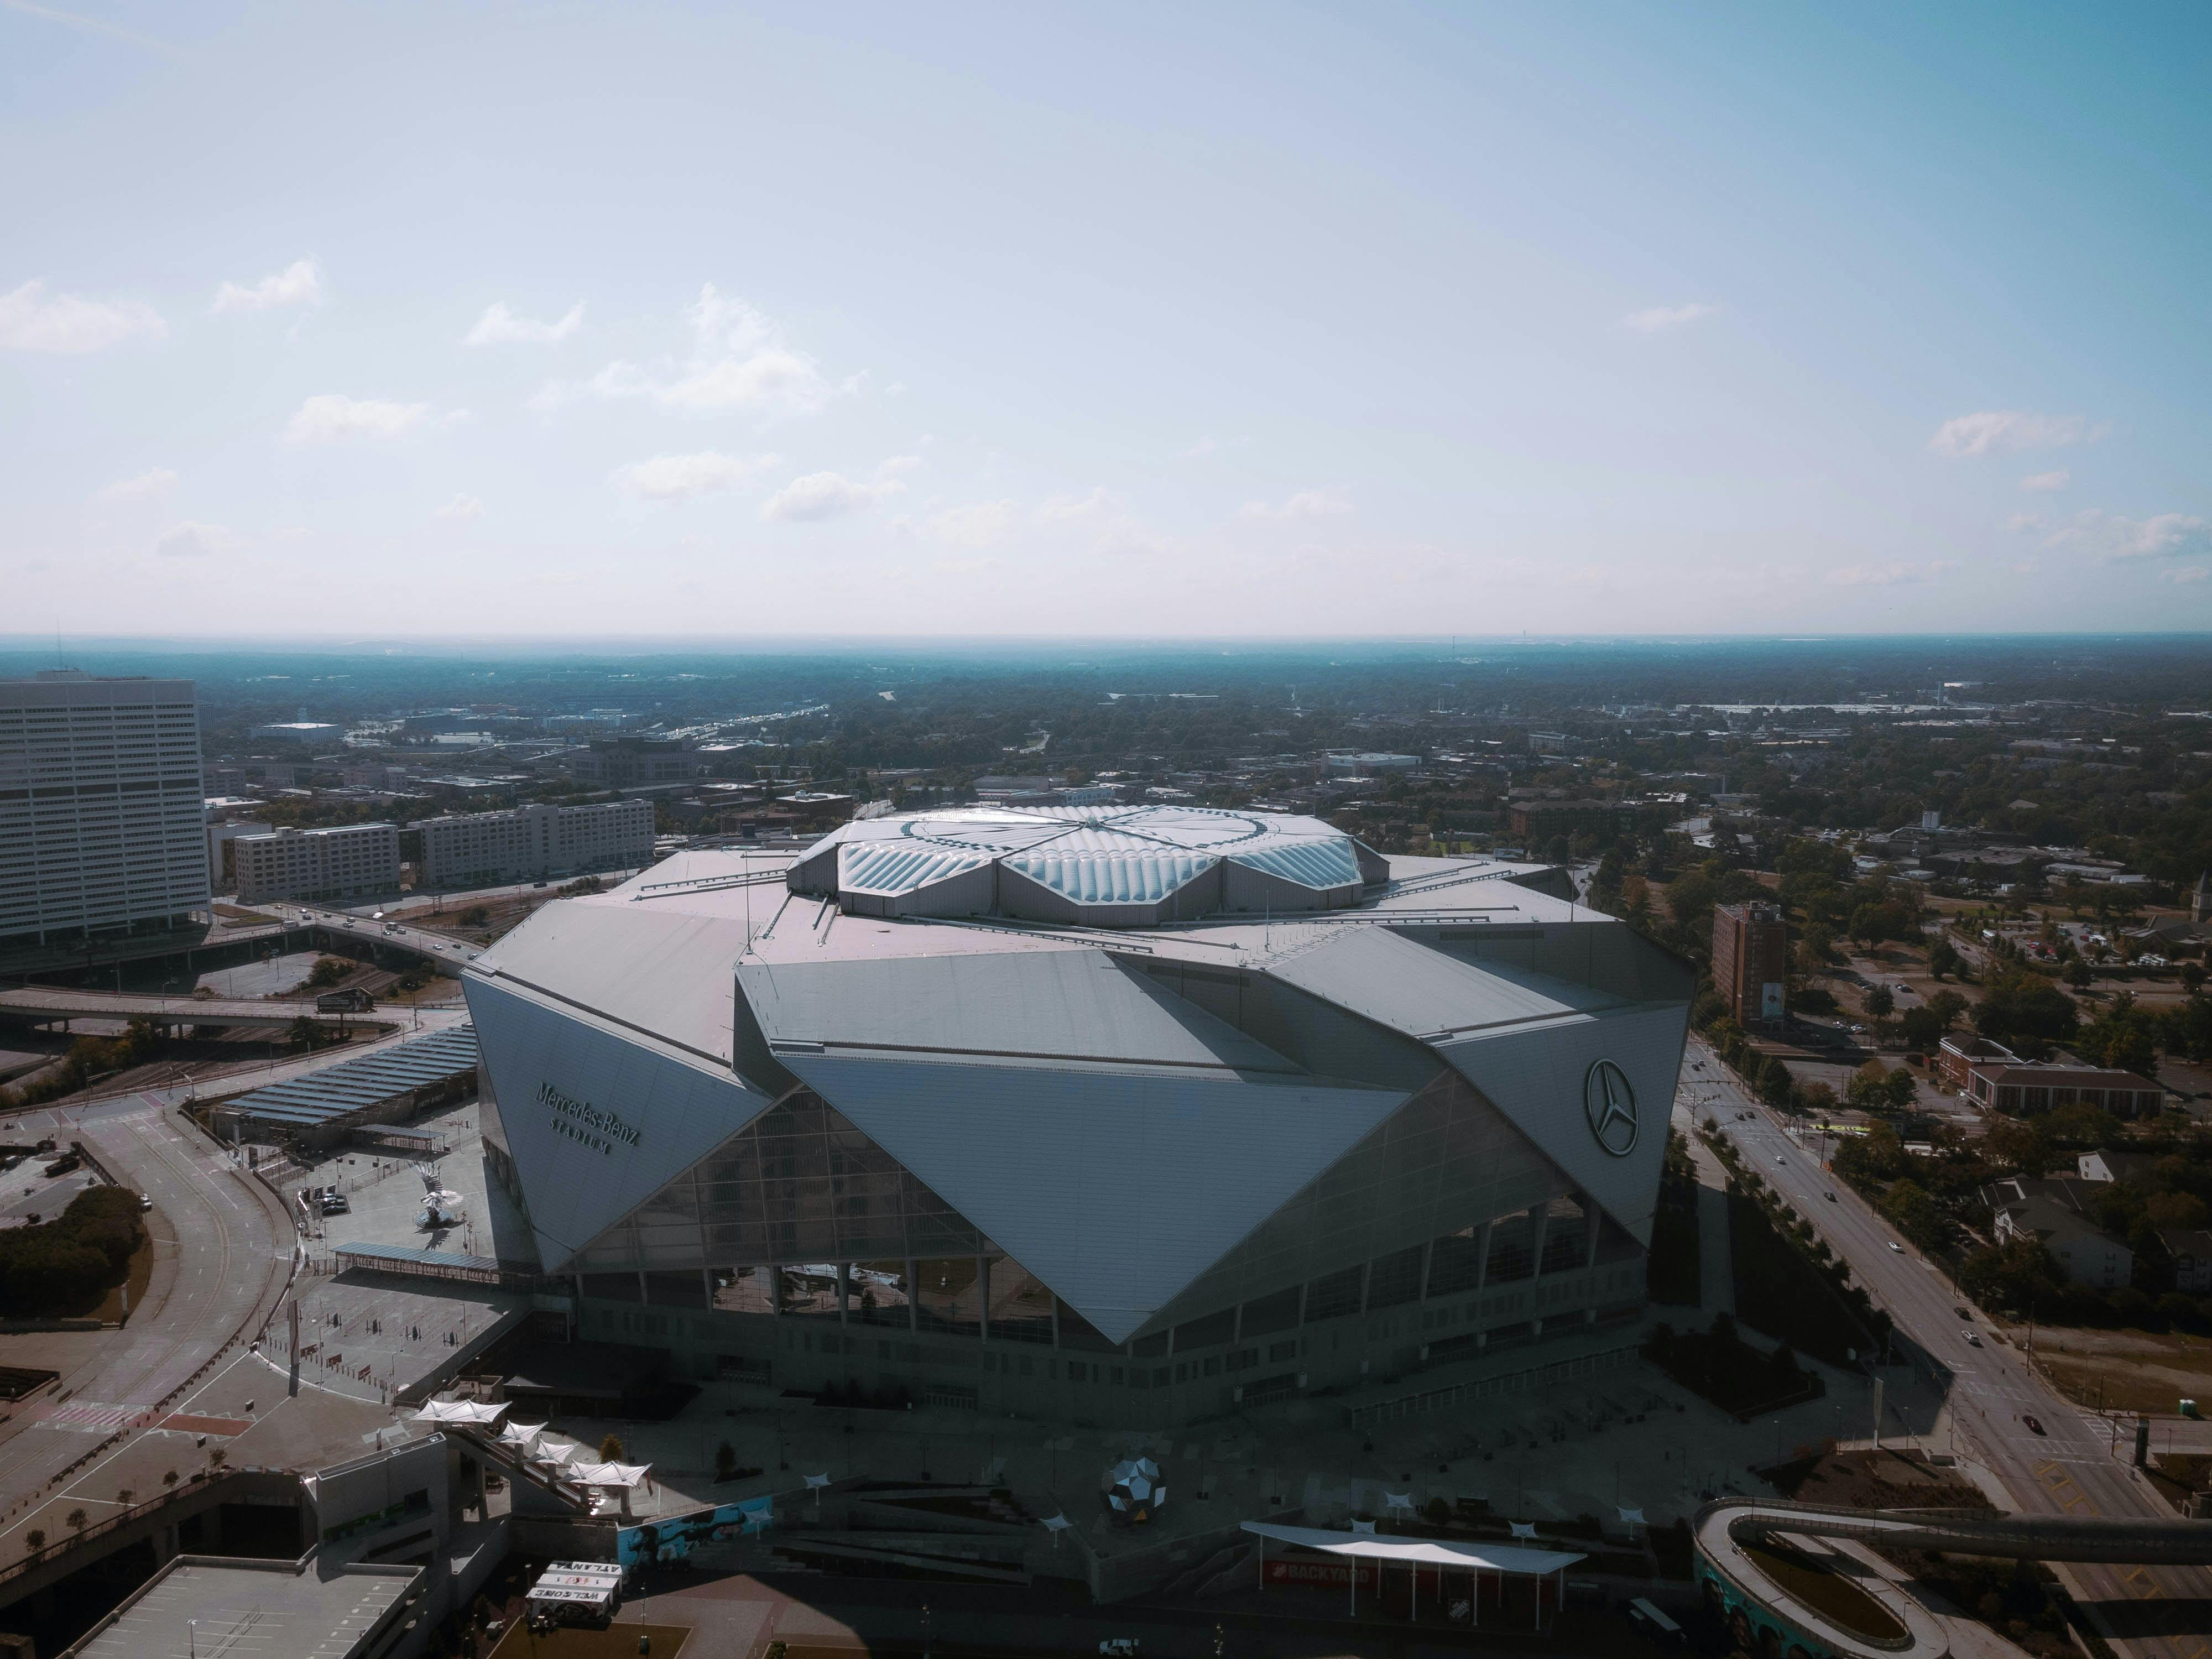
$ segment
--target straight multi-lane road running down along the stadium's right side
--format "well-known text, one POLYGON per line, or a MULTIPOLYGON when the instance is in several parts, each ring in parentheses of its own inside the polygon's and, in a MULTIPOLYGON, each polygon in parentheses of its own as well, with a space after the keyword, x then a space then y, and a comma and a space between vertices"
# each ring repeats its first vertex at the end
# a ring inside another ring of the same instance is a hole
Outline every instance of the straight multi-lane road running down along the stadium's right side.
MULTIPOLYGON (((1966 1303, 1951 1281, 1924 1261, 1849 1186, 1818 1161, 1818 1139, 1798 1146, 1699 1040, 1683 1055, 1683 1082, 1701 1119, 1719 1115, 1721 1130, 1840 1254, 1876 1305, 1889 1310, 1922 1376, 1949 1391, 1951 1425, 1962 1451, 1995 1473, 2026 1515, 2139 1515, 2172 1520, 2174 1511, 2135 1471, 2121 1442, 2112 1451, 2110 1425, 2059 1398, 2026 1369, 2020 1354, 1978 1318, 1960 1318, 1966 1303), (1750 1113, 1739 1119, 1736 1113, 1750 1113), (1829 1192, 1836 1194, 1829 1201, 1829 1192), (1964 1338, 1973 1327, 1982 1345, 1964 1338), (2044 1433, 2028 1429, 2035 1418, 2044 1433)), ((1891 1367, 1896 1387, 1896 1367, 1891 1367)), ((1920 1422, 1916 1429, 1929 1429, 1920 1422)), ((2212 1571, 2143 1566, 2064 1568, 2081 1599, 2101 1604, 2112 1635, 2143 1659, 2212 1659, 2212 1571), (2197 1604, 2197 1606, 2188 1606, 2197 1604)))

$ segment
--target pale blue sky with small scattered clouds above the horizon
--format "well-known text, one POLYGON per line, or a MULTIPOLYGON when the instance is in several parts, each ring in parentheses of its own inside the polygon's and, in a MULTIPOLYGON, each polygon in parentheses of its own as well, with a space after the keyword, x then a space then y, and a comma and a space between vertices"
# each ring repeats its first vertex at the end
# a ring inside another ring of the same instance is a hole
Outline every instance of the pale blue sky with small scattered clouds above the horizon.
POLYGON ((0 635, 2194 630, 2212 9, 0 0, 0 635))

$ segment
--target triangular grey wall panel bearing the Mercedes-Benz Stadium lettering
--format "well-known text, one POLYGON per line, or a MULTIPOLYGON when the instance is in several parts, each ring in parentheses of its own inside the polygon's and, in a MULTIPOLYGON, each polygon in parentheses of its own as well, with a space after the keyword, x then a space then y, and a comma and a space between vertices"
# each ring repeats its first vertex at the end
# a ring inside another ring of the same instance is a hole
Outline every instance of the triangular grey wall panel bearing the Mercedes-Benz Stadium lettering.
POLYGON ((538 998, 478 975, 462 987, 546 1272, 770 1104, 726 1071, 538 998))

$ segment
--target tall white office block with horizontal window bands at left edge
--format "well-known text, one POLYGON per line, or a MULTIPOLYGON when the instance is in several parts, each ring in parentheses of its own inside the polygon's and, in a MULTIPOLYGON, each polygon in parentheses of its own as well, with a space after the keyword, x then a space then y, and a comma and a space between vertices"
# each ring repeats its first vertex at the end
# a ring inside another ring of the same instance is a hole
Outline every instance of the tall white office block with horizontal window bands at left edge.
POLYGON ((208 907, 192 681, 0 679, 0 940, 170 927, 208 907))

